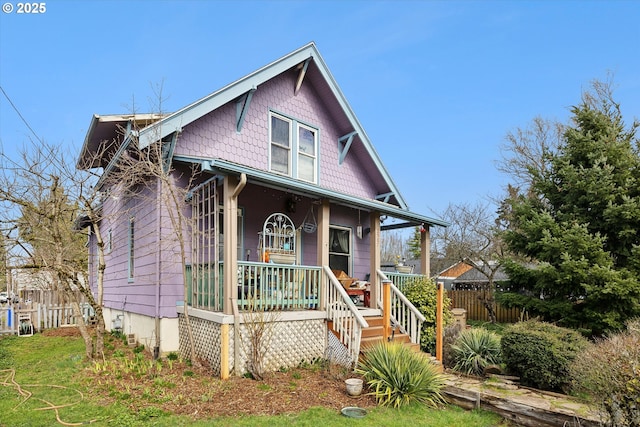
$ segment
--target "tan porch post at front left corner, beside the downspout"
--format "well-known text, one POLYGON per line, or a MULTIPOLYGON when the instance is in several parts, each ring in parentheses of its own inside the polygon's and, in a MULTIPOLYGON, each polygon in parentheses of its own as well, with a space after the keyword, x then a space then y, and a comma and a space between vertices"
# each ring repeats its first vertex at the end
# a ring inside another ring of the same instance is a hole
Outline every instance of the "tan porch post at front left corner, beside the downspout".
POLYGON ((233 314, 232 300, 236 298, 237 292, 236 266, 238 265, 238 200, 233 197, 237 184, 238 178, 235 176, 227 175, 224 179, 224 219, 222 225, 222 232, 224 233, 224 267, 222 269, 222 274, 224 276, 222 281, 224 300, 222 303, 222 311, 224 314, 233 314))

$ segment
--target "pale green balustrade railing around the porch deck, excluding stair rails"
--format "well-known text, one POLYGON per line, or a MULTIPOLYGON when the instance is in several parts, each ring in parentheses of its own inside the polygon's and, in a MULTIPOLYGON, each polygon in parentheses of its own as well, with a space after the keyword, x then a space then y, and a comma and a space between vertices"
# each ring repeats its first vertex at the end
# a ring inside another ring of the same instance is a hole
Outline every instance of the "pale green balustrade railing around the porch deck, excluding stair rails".
MULTIPOLYGON (((224 301, 223 263, 214 269, 208 264, 186 268, 187 304, 194 308, 222 311, 224 301)), ((263 262, 238 262, 235 297, 241 311, 317 309, 320 296, 321 268, 263 262)))

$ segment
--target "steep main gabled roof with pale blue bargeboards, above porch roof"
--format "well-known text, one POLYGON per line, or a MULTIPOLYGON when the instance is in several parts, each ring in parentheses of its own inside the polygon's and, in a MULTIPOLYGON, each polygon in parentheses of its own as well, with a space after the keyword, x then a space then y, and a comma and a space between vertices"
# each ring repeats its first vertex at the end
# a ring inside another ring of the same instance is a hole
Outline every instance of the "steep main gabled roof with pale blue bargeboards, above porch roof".
MULTIPOLYGON (((396 211, 394 213, 400 215, 394 215, 395 217, 402 218, 405 216, 405 219, 410 223, 424 221, 431 225, 447 226, 448 224, 444 221, 409 212, 409 208, 404 198, 401 196, 399 189, 387 169, 384 167, 380 156, 369 140, 364 128, 355 116, 351 106, 338 87, 338 84, 313 42, 302 46, 282 58, 174 113, 163 116, 145 115, 145 119, 147 120, 144 122, 145 127, 139 131, 133 130, 133 127, 129 125, 133 120, 138 120, 137 116, 95 115, 92 119, 90 129, 87 133, 87 137, 78 160, 78 167, 103 167, 105 168, 105 173, 108 173, 112 164, 105 165, 100 162, 90 160, 92 158, 91 154, 95 153, 96 150, 101 149, 105 145, 111 144, 112 141, 119 141, 113 143, 110 147, 112 150, 112 156, 110 157, 117 159, 118 155, 134 140, 138 141, 140 148, 145 148, 154 141, 166 138, 174 133, 181 132, 181 130, 188 124, 198 120, 219 107, 222 107, 229 102, 242 99, 245 95, 249 96, 261 84, 294 68, 298 71, 296 90, 299 89, 300 85, 305 84, 305 82, 308 81, 316 89, 319 96, 330 103, 330 107, 328 109, 332 114, 333 123, 338 131, 343 135, 343 137, 340 138, 342 150, 341 155, 346 155, 349 150, 358 157, 361 157, 361 153, 366 153, 362 158, 366 158, 367 162, 371 162, 373 169, 370 170, 378 171, 378 174, 375 176, 376 179, 379 179, 380 181, 376 186, 378 188, 388 188, 388 193, 379 196, 381 203, 374 203, 374 205, 384 206, 386 208, 384 210, 387 211, 396 211), (128 130, 126 132, 122 132, 122 129, 128 130), (105 144, 105 142, 108 144, 105 144), (384 203, 387 201, 393 201, 393 203, 384 203), (409 215, 409 217, 406 217, 406 215, 409 215)), ((140 122, 138 122, 138 124, 140 124, 140 122)), ((338 141, 336 141, 336 143, 338 143, 338 141)), ((182 160, 184 161, 186 159, 182 160)), ((216 162, 217 161, 218 160, 216 160, 216 162)), ((111 162, 113 163, 113 160, 111 160, 111 162)), ((219 162, 219 164, 221 163, 219 162)), ((260 173, 257 175, 260 175, 260 173)), ((274 178, 273 174, 270 174, 270 176, 271 178, 274 178)), ((323 189, 315 188, 315 191, 322 193, 323 189)), ((364 201, 361 200, 360 202, 364 201)), ((373 206, 371 207, 373 208, 373 206)))

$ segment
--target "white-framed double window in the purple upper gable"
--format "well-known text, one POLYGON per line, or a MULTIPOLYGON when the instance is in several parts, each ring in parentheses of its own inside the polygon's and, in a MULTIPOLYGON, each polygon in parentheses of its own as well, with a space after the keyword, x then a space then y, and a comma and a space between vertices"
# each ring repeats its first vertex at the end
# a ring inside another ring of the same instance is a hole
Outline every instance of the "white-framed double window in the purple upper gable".
POLYGON ((275 113, 271 113, 270 123, 271 171, 317 182, 318 130, 275 113))

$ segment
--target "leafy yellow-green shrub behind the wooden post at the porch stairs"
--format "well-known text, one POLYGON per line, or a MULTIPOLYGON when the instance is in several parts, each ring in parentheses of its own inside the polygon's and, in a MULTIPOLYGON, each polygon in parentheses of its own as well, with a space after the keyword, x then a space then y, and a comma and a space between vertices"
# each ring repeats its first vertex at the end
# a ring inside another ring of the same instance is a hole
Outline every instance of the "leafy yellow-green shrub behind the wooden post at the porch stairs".
MULTIPOLYGON (((436 350, 436 303, 438 294, 436 285, 431 279, 419 277, 407 283, 403 290, 411 304, 413 304, 425 317, 420 333, 420 349, 431 354, 435 354, 436 350)), ((444 325, 453 322, 453 314, 451 314, 451 300, 445 292, 443 301, 444 325)))

